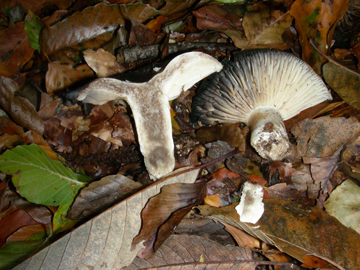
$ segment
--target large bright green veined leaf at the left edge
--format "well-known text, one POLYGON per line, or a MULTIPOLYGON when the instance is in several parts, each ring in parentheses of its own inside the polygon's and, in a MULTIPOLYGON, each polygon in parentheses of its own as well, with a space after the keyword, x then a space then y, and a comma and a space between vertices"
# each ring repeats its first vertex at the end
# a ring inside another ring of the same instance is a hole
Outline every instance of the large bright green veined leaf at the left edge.
POLYGON ((7 150, 0 156, 0 170, 14 174, 13 184, 29 202, 53 206, 73 201, 86 177, 49 158, 35 144, 7 150))

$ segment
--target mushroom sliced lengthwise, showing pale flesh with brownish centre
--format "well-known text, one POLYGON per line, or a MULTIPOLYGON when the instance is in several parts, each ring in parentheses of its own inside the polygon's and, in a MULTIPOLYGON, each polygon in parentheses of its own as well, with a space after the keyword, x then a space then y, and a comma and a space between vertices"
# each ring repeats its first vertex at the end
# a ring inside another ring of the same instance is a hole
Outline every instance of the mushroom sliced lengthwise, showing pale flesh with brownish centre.
POLYGON ((99 78, 69 96, 85 103, 101 105, 123 99, 131 107, 140 151, 151 178, 160 178, 175 166, 169 100, 193 84, 222 69, 220 62, 203 52, 187 52, 175 57, 148 82, 134 83, 115 78, 99 78))

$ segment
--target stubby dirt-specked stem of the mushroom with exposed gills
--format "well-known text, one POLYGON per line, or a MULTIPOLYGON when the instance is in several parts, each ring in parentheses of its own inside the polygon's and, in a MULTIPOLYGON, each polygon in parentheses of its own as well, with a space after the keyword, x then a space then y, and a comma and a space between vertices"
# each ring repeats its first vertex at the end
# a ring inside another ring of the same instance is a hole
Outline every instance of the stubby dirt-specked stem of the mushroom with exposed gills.
POLYGON ((281 160, 290 148, 289 138, 280 112, 271 106, 254 109, 247 118, 250 143, 266 159, 281 160))

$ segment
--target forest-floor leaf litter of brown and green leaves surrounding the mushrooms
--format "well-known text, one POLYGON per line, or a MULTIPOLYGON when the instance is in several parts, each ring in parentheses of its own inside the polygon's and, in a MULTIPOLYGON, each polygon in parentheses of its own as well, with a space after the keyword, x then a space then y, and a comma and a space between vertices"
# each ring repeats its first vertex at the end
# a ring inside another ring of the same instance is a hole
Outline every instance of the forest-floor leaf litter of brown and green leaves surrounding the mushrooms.
POLYGON ((4 2, 1 267, 25 260, 18 267, 357 269, 358 234, 340 223, 358 228, 356 8, 356 1, 348 6, 303 0, 276 5, 4 2), (175 168, 204 164, 234 148, 242 152, 153 183, 128 104, 88 106, 63 98, 96 77, 128 80, 134 75, 136 81, 146 81, 155 66, 165 66, 164 58, 177 51, 200 50, 223 60, 231 59, 236 49, 249 48, 302 51, 301 58, 338 95, 333 103, 286 122, 292 154, 282 161, 261 159, 249 146, 249 130, 242 123, 191 123, 193 87, 171 103, 175 168), (29 85, 39 101, 23 96, 29 85), (30 151, 20 151, 27 147, 30 151), (22 165, 17 164, 19 155, 9 159, 19 151, 25 156, 22 165), (12 170, 6 167, 11 162, 16 164, 12 170), (46 166, 38 168, 40 162, 46 166), (24 166, 34 170, 24 171, 24 166), (71 196, 65 192, 57 197, 44 188, 50 175, 57 175, 52 185, 65 181, 56 188, 71 190, 71 196), (235 211, 246 182, 263 189, 265 212, 255 224, 260 227, 241 223, 235 211), (58 200, 60 205, 54 203, 58 200), (209 225, 204 218, 222 224, 209 225), (199 235, 191 236, 195 232, 199 235), (229 232, 238 246, 229 241, 229 232))

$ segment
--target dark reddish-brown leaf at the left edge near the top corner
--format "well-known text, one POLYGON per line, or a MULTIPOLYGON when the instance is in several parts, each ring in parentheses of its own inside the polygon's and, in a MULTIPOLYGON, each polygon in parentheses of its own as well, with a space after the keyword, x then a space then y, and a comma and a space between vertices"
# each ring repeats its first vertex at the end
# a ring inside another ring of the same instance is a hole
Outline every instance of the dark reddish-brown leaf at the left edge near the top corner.
POLYGON ((10 77, 19 73, 33 53, 24 22, 0 31, 0 75, 10 77))

